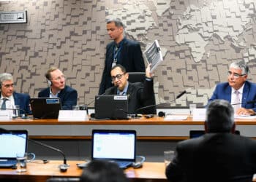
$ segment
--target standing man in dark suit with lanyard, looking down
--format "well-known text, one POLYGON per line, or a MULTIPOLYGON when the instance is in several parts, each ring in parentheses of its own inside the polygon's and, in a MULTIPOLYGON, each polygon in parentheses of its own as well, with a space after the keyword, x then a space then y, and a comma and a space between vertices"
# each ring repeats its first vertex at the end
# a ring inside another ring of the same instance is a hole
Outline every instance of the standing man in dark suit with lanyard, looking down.
POLYGON ((138 41, 132 41, 124 37, 124 25, 119 19, 109 20, 107 30, 110 39, 107 45, 105 67, 102 74, 102 81, 99 85, 99 95, 106 89, 113 86, 110 71, 113 66, 120 64, 127 72, 144 72, 145 64, 138 41))

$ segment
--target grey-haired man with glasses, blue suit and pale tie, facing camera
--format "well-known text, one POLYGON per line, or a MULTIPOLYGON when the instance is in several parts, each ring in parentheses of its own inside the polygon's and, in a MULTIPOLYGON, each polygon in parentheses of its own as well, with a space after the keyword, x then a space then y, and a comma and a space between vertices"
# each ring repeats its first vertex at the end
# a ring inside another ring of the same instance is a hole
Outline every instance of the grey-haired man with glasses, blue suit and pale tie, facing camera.
POLYGON ((230 64, 227 81, 217 84, 208 103, 215 99, 229 101, 236 115, 254 115, 256 111, 256 84, 247 81, 249 68, 243 62, 230 64))

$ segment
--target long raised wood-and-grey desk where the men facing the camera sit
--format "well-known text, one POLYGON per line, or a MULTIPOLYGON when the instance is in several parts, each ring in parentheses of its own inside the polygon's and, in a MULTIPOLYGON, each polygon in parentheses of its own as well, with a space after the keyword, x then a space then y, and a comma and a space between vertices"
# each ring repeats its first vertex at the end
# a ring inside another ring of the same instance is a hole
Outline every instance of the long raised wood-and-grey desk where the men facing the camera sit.
MULTIPOLYGON (((165 121, 155 116, 150 119, 90 120, 85 122, 58 122, 57 119, 13 119, 0 122, 7 130, 29 130, 30 138, 36 139, 91 139, 92 129, 136 130, 139 140, 184 140, 189 130, 204 130, 203 121, 191 118, 179 121, 165 121)), ((236 119, 241 135, 256 137, 256 119, 236 119)))

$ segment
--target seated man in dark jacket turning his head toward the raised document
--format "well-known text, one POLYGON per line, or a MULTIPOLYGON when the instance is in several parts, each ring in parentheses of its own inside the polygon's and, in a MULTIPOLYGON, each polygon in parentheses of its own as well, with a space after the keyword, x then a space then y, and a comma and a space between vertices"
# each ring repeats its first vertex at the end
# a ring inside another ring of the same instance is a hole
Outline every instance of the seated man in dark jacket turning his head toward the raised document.
POLYGON ((48 82, 48 88, 38 93, 39 98, 60 98, 61 109, 72 110, 78 102, 78 92, 66 85, 66 79, 62 71, 56 67, 50 68, 45 77, 48 82))

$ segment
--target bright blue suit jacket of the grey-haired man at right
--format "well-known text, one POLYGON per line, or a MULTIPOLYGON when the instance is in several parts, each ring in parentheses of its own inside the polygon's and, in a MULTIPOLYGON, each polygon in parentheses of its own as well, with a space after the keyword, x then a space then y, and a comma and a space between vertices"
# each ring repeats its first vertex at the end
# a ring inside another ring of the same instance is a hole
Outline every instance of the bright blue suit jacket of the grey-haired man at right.
MULTIPOLYGON (((214 94, 208 100, 208 104, 215 99, 224 99, 231 102, 231 91, 232 90, 228 82, 217 84, 214 94)), ((256 111, 256 103, 246 103, 251 100, 256 100, 256 84, 246 81, 244 83, 241 106, 243 108, 252 108, 253 111, 256 111)))

